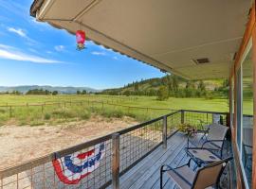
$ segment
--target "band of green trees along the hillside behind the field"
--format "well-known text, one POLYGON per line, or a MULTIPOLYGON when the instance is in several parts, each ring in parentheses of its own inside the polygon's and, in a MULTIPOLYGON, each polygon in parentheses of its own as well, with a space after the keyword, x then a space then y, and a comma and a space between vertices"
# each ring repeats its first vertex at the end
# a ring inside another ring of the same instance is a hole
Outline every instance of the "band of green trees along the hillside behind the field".
POLYGON ((101 94, 114 95, 149 95, 157 96, 164 100, 168 97, 227 97, 229 94, 229 81, 223 80, 221 87, 215 87, 213 91, 207 90, 203 80, 187 80, 174 75, 161 78, 151 78, 136 81, 125 85, 120 89, 104 90, 101 94), (183 84, 183 86, 181 86, 183 84), (184 86, 185 84, 185 86, 184 86))

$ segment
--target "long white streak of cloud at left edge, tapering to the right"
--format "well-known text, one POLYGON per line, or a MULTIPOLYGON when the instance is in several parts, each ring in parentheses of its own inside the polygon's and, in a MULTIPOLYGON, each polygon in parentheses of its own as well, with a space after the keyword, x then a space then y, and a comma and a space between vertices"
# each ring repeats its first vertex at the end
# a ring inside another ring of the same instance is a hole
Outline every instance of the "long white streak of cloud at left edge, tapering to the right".
POLYGON ((0 44, 0 59, 30 61, 34 63, 64 63, 59 60, 50 60, 30 54, 22 53, 19 49, 5 44, 0 44))

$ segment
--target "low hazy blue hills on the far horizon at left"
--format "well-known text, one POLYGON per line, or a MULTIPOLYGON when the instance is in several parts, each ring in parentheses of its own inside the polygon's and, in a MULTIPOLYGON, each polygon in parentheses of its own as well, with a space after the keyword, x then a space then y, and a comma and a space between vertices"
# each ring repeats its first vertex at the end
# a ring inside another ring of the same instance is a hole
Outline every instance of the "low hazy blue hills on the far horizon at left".
POLYGON ((77 91, 85 90, 88 93, 99 93, 101 90, 96 90, 89 87, 61 87, 61 86, 49 86, 49 85, 22 85, 22 86, 0 86, 0 93, 19 91, 26 94, 29 90, 43 89, 50 92, 58 91, 59 94, 76 94, 77 91))

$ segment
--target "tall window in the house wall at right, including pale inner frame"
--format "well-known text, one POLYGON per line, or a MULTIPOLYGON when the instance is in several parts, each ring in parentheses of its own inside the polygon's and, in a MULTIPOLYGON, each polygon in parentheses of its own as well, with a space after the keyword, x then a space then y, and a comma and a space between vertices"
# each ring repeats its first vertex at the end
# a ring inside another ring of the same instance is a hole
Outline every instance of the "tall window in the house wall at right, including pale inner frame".
POLYGON ((247 45, 242 57, 242 64, 236 73, 236 137, 242 164, 242 172, 247 184, 251 187, 252 176, 252 138, 253 138, 253 62, 252 42, 247 45))

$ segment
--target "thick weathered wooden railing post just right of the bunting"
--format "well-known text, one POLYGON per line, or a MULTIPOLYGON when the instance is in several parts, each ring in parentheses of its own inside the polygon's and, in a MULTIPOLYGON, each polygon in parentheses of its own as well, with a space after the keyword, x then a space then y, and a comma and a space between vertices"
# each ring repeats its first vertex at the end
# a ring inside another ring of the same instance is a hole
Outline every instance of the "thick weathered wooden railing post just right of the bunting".
POLYGON ((119 133, 112 135, 112 188, 119 189, 119 133))

